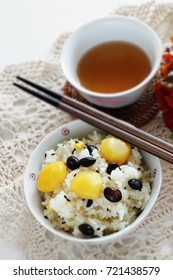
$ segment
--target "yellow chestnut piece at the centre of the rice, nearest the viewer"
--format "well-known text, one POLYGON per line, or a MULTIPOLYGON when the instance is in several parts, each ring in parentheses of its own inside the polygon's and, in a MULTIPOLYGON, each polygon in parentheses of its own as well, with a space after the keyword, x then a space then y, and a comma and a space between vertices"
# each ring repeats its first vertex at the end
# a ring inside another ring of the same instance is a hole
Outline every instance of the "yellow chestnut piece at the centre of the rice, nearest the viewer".
POLYGON ((81 171, 71 181, 72 191, 85 199, 96 199, 102 191, 102 179, 95 171, 81 171))

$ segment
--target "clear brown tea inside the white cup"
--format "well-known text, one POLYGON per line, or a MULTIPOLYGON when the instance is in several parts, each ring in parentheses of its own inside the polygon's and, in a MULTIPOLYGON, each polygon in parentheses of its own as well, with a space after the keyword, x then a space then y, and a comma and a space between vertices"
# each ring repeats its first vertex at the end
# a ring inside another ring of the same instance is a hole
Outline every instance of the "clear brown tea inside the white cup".
POLYGON ((142 82, 151 70, 146 53, 138 46, 121 41, 97 45, 79 61, 81 85, 100 93, 128 90, 142 82))

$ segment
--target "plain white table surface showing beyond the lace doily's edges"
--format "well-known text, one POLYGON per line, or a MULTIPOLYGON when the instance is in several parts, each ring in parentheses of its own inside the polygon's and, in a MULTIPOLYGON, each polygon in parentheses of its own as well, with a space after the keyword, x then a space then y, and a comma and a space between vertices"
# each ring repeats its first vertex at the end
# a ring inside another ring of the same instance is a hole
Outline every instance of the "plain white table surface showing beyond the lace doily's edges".
MULTIPOLYGON (((107 16, 118 5, 142 2, 146 0, 0 0, 0 71, 10 64, 46 59, 60 34, 107 16)), ((1 260, 23 258, 0 237, 1 260)))

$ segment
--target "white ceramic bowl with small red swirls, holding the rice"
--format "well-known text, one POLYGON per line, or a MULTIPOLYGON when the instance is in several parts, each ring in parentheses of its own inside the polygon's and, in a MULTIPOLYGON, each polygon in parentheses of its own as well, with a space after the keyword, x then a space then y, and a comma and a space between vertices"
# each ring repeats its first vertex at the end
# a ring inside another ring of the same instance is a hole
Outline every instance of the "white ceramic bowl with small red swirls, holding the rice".
POLYGON ((88 244, 98 244, 98 243, 119 240, 123 236, 132 232, 137 226, 139 226, 139 224, 143 222, 143 220, 150 213, 159 195, 161 182, 162 182, 162 169, 161 169, 159 159, 147 152, 141 151, 144 161, 147 164, 147 167, 151 170, 154 176, 154 181, 152 185, 151 198, 146 208, 142 211, 142 213, 136 218, 136 220, 133 223, 131 223, 130 225, 128 225, 126 228, 124 228, 119 232, 115 232, 113 234, 104 237, 96 237, 96 238, 89 238, 89 239, 78 238, 62 230, 54 229, 52 224, 43 216, 43 207, 41 205, 42 199, 36 186, 38 173, 40 171, 42 162, 44 160, 45 151, 56 147, 56 144, 58 142, 68 140, 70 138, 76 138, 76 137, 81 138, 83 136, 87 136, 94 129, 96 128, 83 121, 76 120, 64 124, 61 127, 57 128, 56 130, 52 131, 39 143, 39 145, 32 153, 28 165, 26 167, 26 172, 24 177, 24 193, 25 193, 27 204, 32 214, 42 224, 42 226, 59 237, 74 242, 88 243, 88 244))

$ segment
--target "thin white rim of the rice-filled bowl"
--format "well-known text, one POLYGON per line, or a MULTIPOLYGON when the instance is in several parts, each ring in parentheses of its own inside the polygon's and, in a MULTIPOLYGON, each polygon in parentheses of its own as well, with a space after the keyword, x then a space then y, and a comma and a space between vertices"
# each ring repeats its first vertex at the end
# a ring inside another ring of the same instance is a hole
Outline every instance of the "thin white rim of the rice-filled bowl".
MULTIPOLYGON (((47 221, 44 218, 44 215, 42 214, 42 216, 37 214, 37 211, 32 207, 32 203, 31 203, 31 199, 28 196, 31 195, 31 192, 28 192, 28 176, 30 173, 30 165, 32 164, 33 159, 35 158, 35 156, 37 155, 37 152, 39 150, 40 147, 42 147, 42 145, 47 142, 47 140, 49 138, 53 138, 55 137, 57 134, 59 134, 59 132, 64 128, 64 127, 72 127, 72 126, 76 126, 77 128, 80 127, 81 125, 86 125, 87 127, 90 127, 91 129, 95 129, 97 131, 100 131, 100 129, 97 129, 96 127, 82 121, 82 120, 73 120, 70 121, 68 123, 62 124, 61 126, 57 127, 56 129, 52 130, 50 133, 48 133, 40 142, 39 144, 36 146, 36 148, 34 149, 34 151, 32 152, 29 160, 28 160, 28 164, 26 166, 25 169, 25 173, 24 173, 24 195, 25 195, 25 199, 28 205, 29 210, 31 211, 31 213, 33 214, 33 216, 36 218, 36 220, 48 231, 52 232, 53 234, 55 234, 56 236, 59 236, 63 239, 69 240, 69 241, 73 241, 73 242, 77 242, 77 243, 87 243, 89 245, 94 245, 94 244, 99 244, 99 243, 107 243, 107 242, 111 242, 122 239, 122 237, 124 237, 125 235, 127 235, 129 232, 132 232, 132 230, 135 230, 136 227, 138 227, 144 220, 145 218, 149 215, 149 213, 151 212, 151 210, 153 209, 153 206, 159 196, 160 193, 160 189, 161 189, 161 184, 162 184, 162 168, 161 168, 161 162, 159 160, 159 158, 157 158, 154 155, 151 155, 145 151, 143 151, 144 154, 149 154, 150 156, 154 157, 156 162, 157 162, 157 167, 158 167, 158 176, 159 176, 159 185, 157 186, 157 189, 155 189, 154 195, 150 197, 149 202, 147 203, 147 206, 144 208, 144 210, 140 213, 140 215, 129 225, 127 225, 124 229, 118 231, 118 232, 114 232, 111 233, 109 235, 105 235, 102 237, 94 237, 94 238, 81 238, 81 237, 76 237, 73 236, 70 233, 66 233, 65 231, 62 231, 61 229, 55 229, 53 228, 53 226, 51 225, 51 223, 49 221, 47 221)), ((85 135, 85 133, 83 133, 83 135, 85 135)), ((69 138, 67 138, 68 140, 69 138)), ((58 141, 56 142, 58 143, 58 141)), ((139 149, 140 150, 140 149, 139 149)), ((37 188, 34 190, 36 193, 39 194, 39 191, 37 190, 37 188)), ((40 205, 41 207, 41 205, 40 205)))

